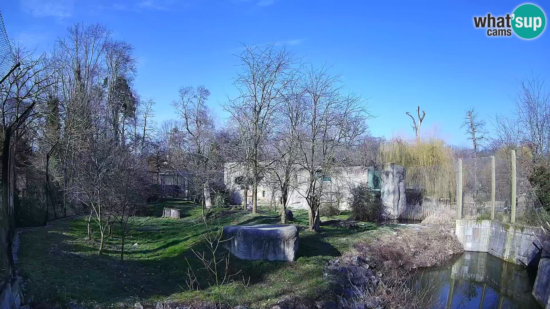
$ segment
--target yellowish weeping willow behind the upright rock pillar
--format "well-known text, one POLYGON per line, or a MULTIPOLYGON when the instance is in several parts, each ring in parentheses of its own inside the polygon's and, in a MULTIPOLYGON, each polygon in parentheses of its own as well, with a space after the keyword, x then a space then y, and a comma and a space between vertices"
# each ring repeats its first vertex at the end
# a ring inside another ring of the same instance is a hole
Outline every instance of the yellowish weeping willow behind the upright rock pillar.
POLYGON ((405 186, 419 189, 421 197, 455 198, 455 159, 452 149, 442 140, 392 140, 380 146, 377 161, 403 165, 405 186))

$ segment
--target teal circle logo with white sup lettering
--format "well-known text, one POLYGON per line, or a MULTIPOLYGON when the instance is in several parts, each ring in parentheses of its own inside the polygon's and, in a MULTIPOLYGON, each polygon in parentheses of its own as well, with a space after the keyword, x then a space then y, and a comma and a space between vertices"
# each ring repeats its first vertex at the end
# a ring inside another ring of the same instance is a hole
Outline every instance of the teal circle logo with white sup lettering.
POLYGON ((546 16, 535 4, 521 4, 512 14, 512 29, 522 38, 535 38, 544 31, 546 16))

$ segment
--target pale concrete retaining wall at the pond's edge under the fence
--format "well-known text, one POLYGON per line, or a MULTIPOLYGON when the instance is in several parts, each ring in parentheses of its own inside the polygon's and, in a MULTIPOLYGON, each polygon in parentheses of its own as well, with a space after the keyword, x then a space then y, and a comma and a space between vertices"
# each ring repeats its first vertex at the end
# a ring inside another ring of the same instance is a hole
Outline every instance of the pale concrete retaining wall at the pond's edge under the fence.
POLYGON ((532 242, 542 239, 542 230, 495 220, 456 220, 456 236, 466 251, 488 252, 514 264, 528 264, 538 249, 532 242))

